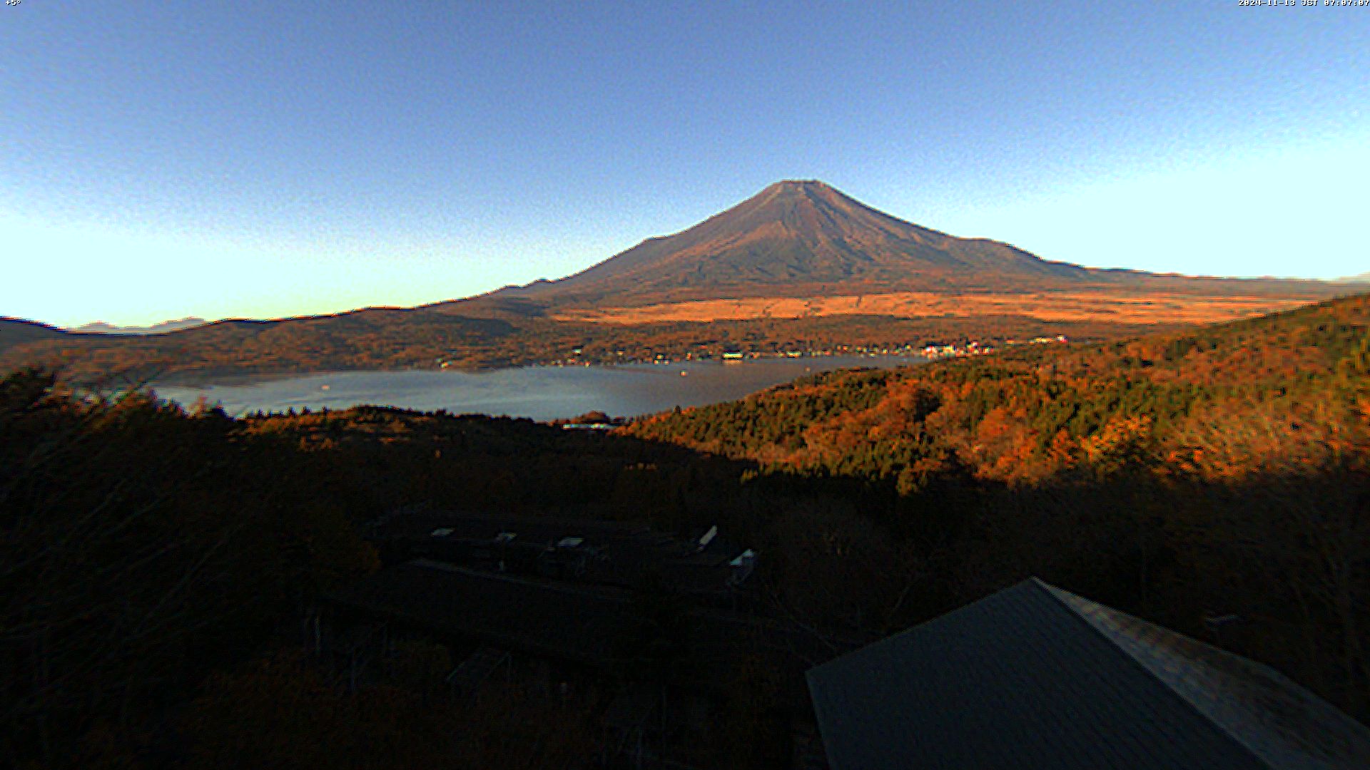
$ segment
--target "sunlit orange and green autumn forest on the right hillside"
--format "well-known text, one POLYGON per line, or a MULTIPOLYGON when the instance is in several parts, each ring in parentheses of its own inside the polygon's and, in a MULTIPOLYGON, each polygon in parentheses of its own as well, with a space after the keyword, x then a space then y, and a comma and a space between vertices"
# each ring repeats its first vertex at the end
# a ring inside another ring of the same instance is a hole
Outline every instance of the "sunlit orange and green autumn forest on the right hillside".
POLYGON ((1360 296, 1197 332, 838 371, 630 433, 900 492, 1123 466, 1237 480, 1360 456, 1367 326, 1360 296))

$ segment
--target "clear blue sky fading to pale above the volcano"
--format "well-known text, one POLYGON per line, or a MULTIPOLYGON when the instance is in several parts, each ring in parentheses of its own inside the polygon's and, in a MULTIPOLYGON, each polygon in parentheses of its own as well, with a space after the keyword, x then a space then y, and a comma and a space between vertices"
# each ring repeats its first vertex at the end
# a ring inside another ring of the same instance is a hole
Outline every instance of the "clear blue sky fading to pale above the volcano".
POLYGON ((0 5, 0 315, 467 296, 781 178, 1091 266, 1370 270, 1370 8, 737 5, 0 5))

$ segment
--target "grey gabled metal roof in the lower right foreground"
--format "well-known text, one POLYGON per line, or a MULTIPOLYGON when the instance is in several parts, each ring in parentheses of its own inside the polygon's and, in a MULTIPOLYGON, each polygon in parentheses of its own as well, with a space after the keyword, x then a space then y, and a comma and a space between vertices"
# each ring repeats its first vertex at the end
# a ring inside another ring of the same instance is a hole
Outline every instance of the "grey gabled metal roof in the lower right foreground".
POLYGON ((1036 578, 810 669, 833 770, 1370 767, 1274 670, 1036 578))

